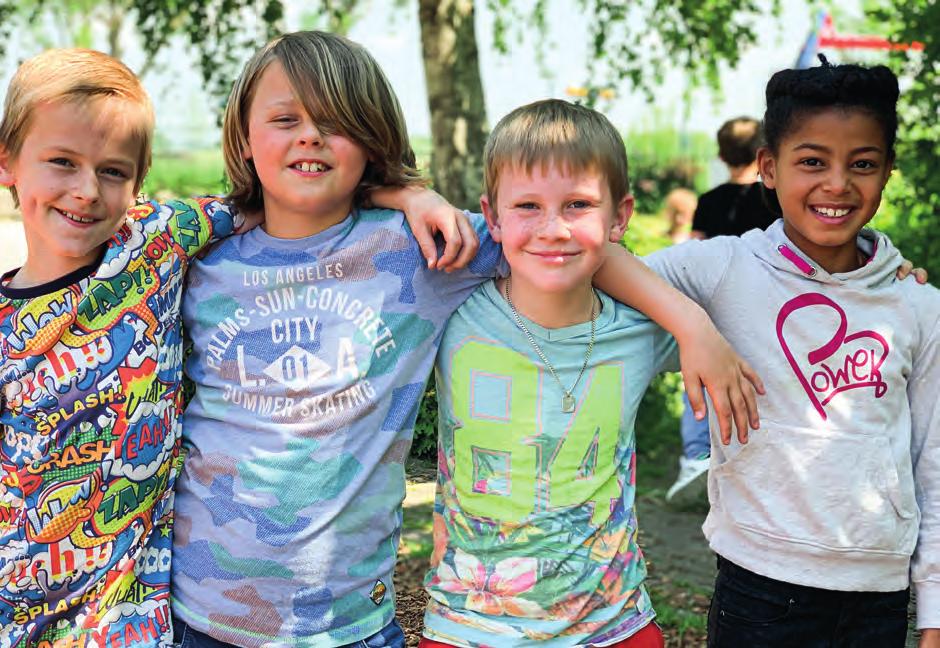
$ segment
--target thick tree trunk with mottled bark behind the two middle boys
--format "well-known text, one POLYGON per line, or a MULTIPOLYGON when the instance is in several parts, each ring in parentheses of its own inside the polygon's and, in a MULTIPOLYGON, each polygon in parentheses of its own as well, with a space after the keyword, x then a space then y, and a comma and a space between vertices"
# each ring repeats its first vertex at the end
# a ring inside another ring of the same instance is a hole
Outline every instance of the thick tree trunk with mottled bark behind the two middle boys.
POLYGON ((486 106, 473 0, 419 0, 431 109, 431 177, 457 207, 479 211, 486 106))

